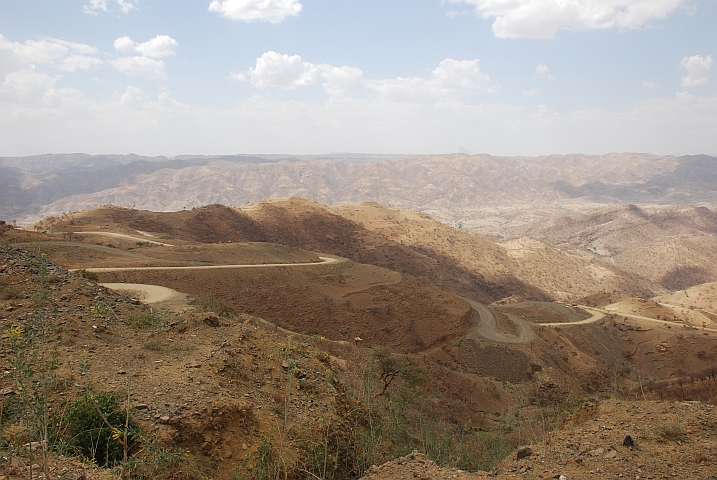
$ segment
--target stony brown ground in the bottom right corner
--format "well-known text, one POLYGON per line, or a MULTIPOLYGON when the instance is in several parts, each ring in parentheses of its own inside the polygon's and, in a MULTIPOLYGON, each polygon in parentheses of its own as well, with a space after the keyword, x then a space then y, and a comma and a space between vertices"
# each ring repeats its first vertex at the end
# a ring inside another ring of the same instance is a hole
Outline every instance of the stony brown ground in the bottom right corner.
POLYGON ((717 407, 700 402, 585 403, 547 443, 519 452, 488 473, 440 468, 413 454, 372 467, 364 479, 713 479, 717 407))

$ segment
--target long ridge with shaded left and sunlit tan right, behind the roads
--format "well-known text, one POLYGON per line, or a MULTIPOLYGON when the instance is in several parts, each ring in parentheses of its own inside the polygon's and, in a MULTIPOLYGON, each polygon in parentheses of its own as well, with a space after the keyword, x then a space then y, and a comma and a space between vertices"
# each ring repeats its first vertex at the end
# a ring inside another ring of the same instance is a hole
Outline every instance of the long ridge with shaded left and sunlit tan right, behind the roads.
POLYGON ((103 207, 59 219, 51 228, 82 231, 92 225, 107 231, 129 227, 159 232, 180 241, 285 243, 426 277, 485 303, 511 295, 568 300, 599 291, 662 293, 653 290, 650 282, 638 282, 634 275, 594 258, 536 241, 496 244, 424 214, 375 203, 329 208, 290 198, 236 209, 210 206, 174 213, 103 207))

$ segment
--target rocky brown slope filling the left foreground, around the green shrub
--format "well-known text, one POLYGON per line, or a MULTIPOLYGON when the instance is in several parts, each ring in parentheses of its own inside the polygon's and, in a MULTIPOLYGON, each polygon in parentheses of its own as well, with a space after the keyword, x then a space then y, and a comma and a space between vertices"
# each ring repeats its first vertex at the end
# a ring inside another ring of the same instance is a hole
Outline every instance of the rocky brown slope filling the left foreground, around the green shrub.
MULTIPOLYGON (((262 321, 248 315, 158 313, 51 263, 43 287, 35 256, 2 245, 0 254, 2 405, 26 392, 19 385, 27 380, 11 366, 18 354, 13 331, 22 339, 34 334, 35 343, 22 347, 34 352, 44 322, 46 350, 57 360, 51 410, 63 411, 90 387, 128 396, 123 404, 146 437, 186 452, 195 473, 230 478, 262 439, 285 432, 308 442, 327 423, 341 425, 336 411, 343 397, 330 374, 339 360, 322 351, 320 339, 273 325, 263 330, 262 321), (47 303, 38 306, 42 288, 47 303)), ((3 425, 0 442, 8 453, 0 475, 27 475, 39 463, 37 454, 23 453, 22 445, 31 446, 27 435, 22 421, 3 425)), ((296 444, 287 444, 284 455, 296 461, 296 444)), ((54 464, 55 474, 70 471, 65 461, 54 464)))

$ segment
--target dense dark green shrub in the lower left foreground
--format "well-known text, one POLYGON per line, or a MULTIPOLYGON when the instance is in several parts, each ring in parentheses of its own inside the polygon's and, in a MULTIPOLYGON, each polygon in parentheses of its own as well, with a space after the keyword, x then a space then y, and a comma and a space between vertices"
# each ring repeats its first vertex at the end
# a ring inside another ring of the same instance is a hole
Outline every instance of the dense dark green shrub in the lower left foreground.
MULTIPOLYGON (((127 412, 120 409, 113 393, 89 391, 67 409, 67 443, 97 465, 113 466, 124 459, 122 441, 125 437, 126 415, 127 412)), ((133 443, 133 431, 136 431, 136 427, 130 419, 127 434, 130 443, 133 443)), ((127 450, 131 452, 132 445, 128 445, 127 450)))

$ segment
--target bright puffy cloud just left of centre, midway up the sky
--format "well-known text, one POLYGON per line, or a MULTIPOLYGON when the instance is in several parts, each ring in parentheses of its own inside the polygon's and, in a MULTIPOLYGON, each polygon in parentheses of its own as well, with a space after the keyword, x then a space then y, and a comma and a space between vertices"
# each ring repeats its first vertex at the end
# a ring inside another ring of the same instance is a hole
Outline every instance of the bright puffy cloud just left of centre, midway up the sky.
MULTIPOLYGON (((295 90, 315 85, 321 79, 321 69, 303 61, 299 55, 269 51, 256 59, 256 65, 249 70, 248 75, 252 86, 256 88, 295 90)), ((240 79, 238 76, 235 78, 240 79)))

